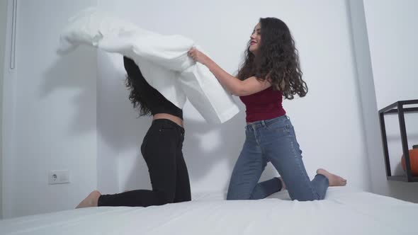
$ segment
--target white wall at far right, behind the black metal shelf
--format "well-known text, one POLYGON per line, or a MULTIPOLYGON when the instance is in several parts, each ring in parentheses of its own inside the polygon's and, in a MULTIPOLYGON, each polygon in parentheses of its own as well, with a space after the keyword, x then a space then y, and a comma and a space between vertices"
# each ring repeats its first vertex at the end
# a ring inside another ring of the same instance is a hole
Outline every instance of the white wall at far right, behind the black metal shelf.
MULTIPOLYGON (((418 22, 417 9, 418 2, 414 0, 364 1, 377 109, 384 108, 395 101, 418 98, 416 85, 418 33, 415 30, 418 22)), ((409 148, 412 148, 413 144, 418 144, 417 116, 417 113, 405 116, 409 148)), ((397 116, 389 115, 385 120, 392 174, 399 175, 403 172, 399 166, 402 147, 397 116)), ((380 139, 380 129, 375 137, 380 139)), ((375 148, 381 149, 381 144, 376 144, 375 148)), ((375 193, 418 202, 418 183, 386 180, 383 151, 378 156, 371 157, 379 166, 372 172, 372 185, 375 193)))

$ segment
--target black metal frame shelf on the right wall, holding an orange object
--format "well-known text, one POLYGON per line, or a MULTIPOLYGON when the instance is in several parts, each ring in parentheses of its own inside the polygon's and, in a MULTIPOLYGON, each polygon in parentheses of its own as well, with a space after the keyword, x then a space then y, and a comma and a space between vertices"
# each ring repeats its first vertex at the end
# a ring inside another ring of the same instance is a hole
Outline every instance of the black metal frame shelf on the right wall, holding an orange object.
POLYGON ((418 112, 418 107, 404 108, 404 105, 418 104, 418 100, 397 101, 379 110, 380 131, 382 134, 383 154, 385 156, 386 178, 388 180, 418 182, 418 176, 412 176, 411 162, 409 161, 409 149, 407 130, 405 127, 405 113, 418 112), (400 139, 402 141, 402 151, 405 157, 406 176, 392 176, 390 171, 390 159, 388 150, 388 137, 386 136, 385 114, 397 114, 399 118, 400 139))

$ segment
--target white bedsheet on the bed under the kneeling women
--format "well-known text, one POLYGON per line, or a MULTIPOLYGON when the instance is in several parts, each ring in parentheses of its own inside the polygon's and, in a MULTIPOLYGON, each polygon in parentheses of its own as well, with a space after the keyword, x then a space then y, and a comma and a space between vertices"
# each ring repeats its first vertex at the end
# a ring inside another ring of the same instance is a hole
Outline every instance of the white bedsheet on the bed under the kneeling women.
POLYGON ((224 197, 198 193, 191 202, 157 207, 90 207, 6 219, 0 234, 417 234, 417 204, 349 188, 329 188, 326 200, 313 202, 288 200, 287 193, 264 200, 224 197))

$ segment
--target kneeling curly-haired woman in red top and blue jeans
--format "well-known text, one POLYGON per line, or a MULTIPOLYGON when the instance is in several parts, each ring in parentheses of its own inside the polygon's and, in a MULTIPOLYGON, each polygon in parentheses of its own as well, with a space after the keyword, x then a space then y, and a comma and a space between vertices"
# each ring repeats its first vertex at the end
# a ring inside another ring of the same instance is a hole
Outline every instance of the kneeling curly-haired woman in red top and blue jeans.
POLYGON ((285 188, 292 200, 322 200, 329 186, 346 185, 346 180, 322 168, 312 180, 307 176, 295 130, 282 106, 283 96, 291 100, 307 93, 295 41, 278 18, 261 18, 250 38, 237 77, 196 48, 188 52, 247 108, 246 139, 227 200, 261 199, 285 188), (259 183, 269 161, 281 177, 259 183))

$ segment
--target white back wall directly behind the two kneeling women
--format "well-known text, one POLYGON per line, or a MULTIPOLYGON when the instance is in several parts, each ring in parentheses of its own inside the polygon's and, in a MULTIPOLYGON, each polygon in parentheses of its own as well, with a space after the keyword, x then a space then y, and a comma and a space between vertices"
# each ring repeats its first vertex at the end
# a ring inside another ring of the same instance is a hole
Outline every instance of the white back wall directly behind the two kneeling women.
MULTIPOLYGON (((230 73, 237 70, 259 17, 282 18, 293 32, 310 88, 306 98, 284 102, 307 171, 314 176, 317 168, 328 168, 348 178, 349 185, 369 190, 346 1, 258 1, 254 7, 252 1, 206 1, 196 6, 195 1, 101 0, 99 6, 143 28, 193 38, 230 73)), ((105 193, 150 188, 139 151, 150 120, 135 118, 128 91, 121 86, 125 74, 121 57, 101 53, 98 68, 98 172, 110 172, 99 174, 98 188, 105 193)), ((184 108, 183 153, 193 192, 227 188, 244 142, 244 107, 237 102, 242 112, 222 125, 205 123, 190 103, 184 108)), ((269 165, 263 178, 271 176, 276 171, 269 165)))

